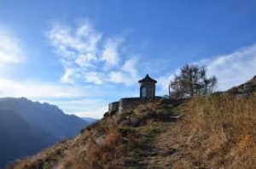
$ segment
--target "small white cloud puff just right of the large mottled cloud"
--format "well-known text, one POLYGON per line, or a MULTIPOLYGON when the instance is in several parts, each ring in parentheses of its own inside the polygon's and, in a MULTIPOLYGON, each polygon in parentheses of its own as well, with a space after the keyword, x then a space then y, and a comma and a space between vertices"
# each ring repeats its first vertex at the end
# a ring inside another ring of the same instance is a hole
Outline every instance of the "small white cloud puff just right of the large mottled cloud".
POLYGON ((102 60, 106 63, 106 68, 112 67, 119 63, 119 45, 121 44, 120 39, 108 39, 105 43, 104 50, 102 53, 102 60))

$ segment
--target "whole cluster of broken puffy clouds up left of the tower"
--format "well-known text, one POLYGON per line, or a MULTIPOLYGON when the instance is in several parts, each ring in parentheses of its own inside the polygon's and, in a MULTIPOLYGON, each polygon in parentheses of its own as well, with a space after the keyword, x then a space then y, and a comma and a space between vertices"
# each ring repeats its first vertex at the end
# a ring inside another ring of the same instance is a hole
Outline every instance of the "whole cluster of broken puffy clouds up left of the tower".
POLYGON ((103 37, 90 21, 76 26, 55 23, 47 33, 49 42, 59 55, 64 74, 61 82, 84 81, 96 85, 106 82, 125 85, 135 84, 131 79, 137 77, 137 59, 126 53, 124 37, 103 37), (130 56, 130 58, 129 58, 130 56))

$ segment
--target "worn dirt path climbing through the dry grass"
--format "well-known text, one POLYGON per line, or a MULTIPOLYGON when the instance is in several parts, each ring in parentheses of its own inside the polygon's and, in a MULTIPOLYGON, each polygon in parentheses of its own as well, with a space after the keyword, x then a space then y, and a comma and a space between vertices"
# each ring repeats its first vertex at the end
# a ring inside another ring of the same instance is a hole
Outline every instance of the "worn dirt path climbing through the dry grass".
POLYGON ((183 147, 189 144, 191 132, 186 130, 182 121, 161 122, 162 132, 153 141, 151 155, 144 157, 144 163, 148 169, 190 168, 189 155, 185 155, 183 147))

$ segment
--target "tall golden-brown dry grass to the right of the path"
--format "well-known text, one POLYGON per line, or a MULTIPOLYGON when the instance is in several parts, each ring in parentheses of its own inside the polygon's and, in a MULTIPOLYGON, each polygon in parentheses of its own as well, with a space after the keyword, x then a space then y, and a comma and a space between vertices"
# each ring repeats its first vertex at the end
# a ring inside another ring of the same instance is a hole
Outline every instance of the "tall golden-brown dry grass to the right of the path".
POLYGON ((247 99, 230 95, 195 98, 186 108, 193 133, 190 153, 195 161, 213 168, 255 168, 255 95, 247 99))

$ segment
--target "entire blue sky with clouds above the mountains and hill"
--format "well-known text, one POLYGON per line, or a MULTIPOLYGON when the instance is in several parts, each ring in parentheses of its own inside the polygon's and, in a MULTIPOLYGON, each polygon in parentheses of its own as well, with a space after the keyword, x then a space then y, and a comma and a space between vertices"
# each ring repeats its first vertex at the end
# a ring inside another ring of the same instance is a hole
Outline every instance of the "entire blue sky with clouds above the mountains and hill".
POLYGON ((185 64, 206 65, 218 90, 256 74, 256 1, 0 0, 0 97, 27 97, 100 118, 157 94, 185 64))

